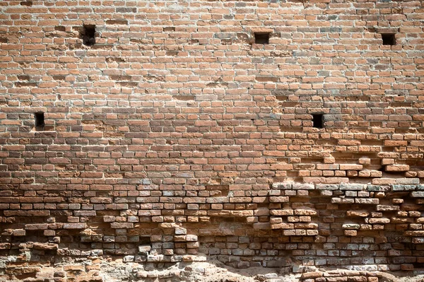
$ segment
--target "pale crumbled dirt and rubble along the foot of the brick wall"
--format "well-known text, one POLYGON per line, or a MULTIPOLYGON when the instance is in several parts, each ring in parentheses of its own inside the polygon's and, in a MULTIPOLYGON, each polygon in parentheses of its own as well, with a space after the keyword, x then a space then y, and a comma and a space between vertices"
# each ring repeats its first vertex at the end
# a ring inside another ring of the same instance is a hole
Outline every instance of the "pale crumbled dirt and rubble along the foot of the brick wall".
MULTIPOLYGON (((199 260, 205 260, 199 257, 199 260)), ((1 257, 0 281, 25 282, 422 282, 424 271, 409 274, 382 271, 318 269, 285 274, 283 269, 252 267, 233 269, 214 260, 178 262, 171 266, 152 263, 125 263, 122 260, 87 259, 85 261, 16 262, 16 257, 1 257), (406 276, 405 276, 406 275, 406 276)))

